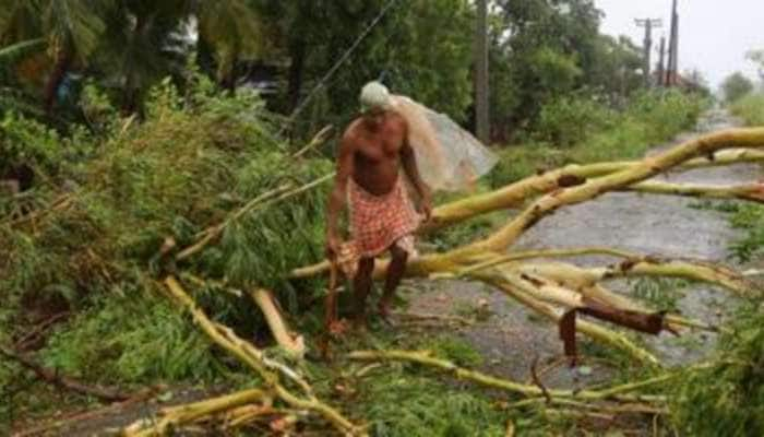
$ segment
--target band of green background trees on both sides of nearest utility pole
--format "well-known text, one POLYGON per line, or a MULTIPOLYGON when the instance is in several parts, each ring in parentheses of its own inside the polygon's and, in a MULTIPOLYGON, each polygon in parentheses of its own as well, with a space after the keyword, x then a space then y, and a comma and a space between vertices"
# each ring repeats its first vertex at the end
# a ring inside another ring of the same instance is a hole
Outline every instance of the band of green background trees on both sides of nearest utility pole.
MULTIPOLYGON (((67 97, 95 81, 123 110, 141 111, 163 78, 182 86, 193 56, 222 88, 274 84, 268 107, 283 115, 299 107, 298 134, 347 121, 359 87, 373 79, 468 125, 475 14, 467 0, 9 0, 0 74, 19 86, 0 97, 19 88, 26 103, 65 113, 67 97)), ((570 95, 619 104, 643 86, 640 48, 601 34, 600 20, 592 0, 493 3, 494 140, 570 95)))

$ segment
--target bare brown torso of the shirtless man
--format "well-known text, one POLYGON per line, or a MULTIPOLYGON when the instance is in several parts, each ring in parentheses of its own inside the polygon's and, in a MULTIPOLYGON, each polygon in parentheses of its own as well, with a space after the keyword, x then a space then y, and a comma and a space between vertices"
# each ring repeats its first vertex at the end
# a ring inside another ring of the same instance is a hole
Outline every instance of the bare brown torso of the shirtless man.
POLYGON ((375 119, 360 118, 350 125, 348 135, 355 145, 353 180, 374 196, 392 191, 401 167, 405 120, 391 111, 375 119))

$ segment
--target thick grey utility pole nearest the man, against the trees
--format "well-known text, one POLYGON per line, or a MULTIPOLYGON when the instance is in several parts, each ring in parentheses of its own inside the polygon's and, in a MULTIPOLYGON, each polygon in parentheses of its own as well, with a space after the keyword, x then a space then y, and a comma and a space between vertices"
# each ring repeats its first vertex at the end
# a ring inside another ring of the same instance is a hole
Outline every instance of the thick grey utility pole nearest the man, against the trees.
POLYGON ((477 28, 475 37, 475 118, 478 140, 490 143, 490 118, 488 108, 488 4, 477 1, 477 28))

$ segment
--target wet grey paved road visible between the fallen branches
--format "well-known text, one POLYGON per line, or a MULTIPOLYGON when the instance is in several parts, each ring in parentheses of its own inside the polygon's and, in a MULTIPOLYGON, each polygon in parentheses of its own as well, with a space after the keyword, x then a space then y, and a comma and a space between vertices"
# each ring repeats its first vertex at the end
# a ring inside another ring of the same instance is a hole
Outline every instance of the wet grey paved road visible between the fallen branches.
MULTIPOLYGON (((671 146, 704 131, 713 131, 736 122, 724 111, 711 111, 699 123, 695 132, 682 134, 671 144, 655 147, 652 152, 671 146)), ((696 169, 658 179, 676 182, 703 182, 728 185, 755 180, 760 174, 756 165, 745 164, 730 167, 696 169)), ((637 193, 607 193, 594 201, 563 208, 554 215, 544 218, 517 243, 523 248, 563 248, 582 246, 610 246, 640 253, 693 257, 715 262, 728 258, 727 246, 738 235, 725 216, 711 210, 689 208, 693 199, 637 193)), ((578 264, 601 264, 608 258, 582 257, 578 264)), ((612 288, 628 293, 632 284, 613 282, 612 288)), ((704 284, 692 285, 679 293, 681 311, 708 322, 719 321, 732 306, 724 291, 704 284)), ((480 284, 437 283, 418 296, 411 295, 411 307, 422 311, 449 312, 457 308, 475 306, 486 299, 494 316, 486 322, 471 327, 462 335, 475 344, 486 357, 484 368, 513 377, 527 379, 534 356, 541 363, 562 354, 562 343, 557 327, 533 317, 521 305, 508 300, 499 293, 490 292, 480 284)), ((714 343, 713 335, 691 333, 681 339, 670 334, 659 338, 643 336, 655 353, 669 364, 699 359, 714 343)), ((594 374, 581 383, 607 378, 607 370, 593 364, 594 374)), ((559 369, 545 376, 551 386, 571 383, 569 370, 559 369)))

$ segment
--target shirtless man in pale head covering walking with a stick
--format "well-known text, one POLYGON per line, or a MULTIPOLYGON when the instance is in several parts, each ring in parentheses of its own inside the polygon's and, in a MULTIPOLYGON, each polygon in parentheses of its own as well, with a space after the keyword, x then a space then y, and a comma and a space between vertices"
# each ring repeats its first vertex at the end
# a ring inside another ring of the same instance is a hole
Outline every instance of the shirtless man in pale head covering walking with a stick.
POLYGON ((386 320, 406 261, 415 252, 413 233, 421 220, 408 198, 402 167, 418 193, 425 220, 430 217, 432 202, 408 143, 408 126, 391 109, 387 88, 371 82, 363 86, 360 101, 362 114, 348 126, 339 145, 337 175, 329 200, 326 255, 353 277, 355 322, 362 326, 374 258, 390 250, 384 293, 378 306, 386 320), (341 244, 337 213, 346 201, 350 240, 341 244))

